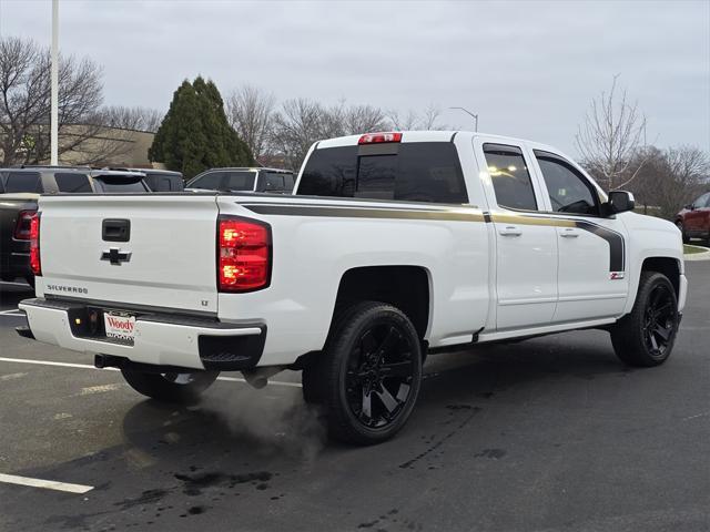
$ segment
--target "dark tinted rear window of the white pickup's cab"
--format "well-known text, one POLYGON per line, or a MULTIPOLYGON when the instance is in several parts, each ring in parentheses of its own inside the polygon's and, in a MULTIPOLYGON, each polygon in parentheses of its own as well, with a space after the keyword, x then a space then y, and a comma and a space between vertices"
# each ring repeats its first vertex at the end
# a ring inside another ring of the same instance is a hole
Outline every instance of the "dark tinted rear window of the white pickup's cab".
POLYGON ((297 195, 467 203, 458 154, 448 142, 314 150, 297 195))

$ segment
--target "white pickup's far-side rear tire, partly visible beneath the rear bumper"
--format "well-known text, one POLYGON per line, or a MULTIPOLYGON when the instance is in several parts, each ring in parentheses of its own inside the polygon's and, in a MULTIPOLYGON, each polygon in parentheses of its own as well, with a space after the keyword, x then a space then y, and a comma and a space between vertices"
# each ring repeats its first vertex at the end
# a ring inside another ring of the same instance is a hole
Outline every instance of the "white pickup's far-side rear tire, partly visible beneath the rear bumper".
POLYGON ((200 395, 216 380, 219 371, 190 374, 148 374, 122 369, 125 381, 139 393, 159 401, 195 402, 200 395))

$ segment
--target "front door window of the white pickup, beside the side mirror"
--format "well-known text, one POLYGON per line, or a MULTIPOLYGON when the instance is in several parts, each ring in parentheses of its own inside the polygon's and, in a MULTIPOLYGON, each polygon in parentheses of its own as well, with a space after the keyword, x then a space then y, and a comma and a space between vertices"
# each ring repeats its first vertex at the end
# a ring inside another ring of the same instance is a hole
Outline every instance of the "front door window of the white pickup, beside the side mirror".
POLYGON ((599 215, 596 191, 591 184, 565 160, 536 150, 547 193, 556 213, 599 215))

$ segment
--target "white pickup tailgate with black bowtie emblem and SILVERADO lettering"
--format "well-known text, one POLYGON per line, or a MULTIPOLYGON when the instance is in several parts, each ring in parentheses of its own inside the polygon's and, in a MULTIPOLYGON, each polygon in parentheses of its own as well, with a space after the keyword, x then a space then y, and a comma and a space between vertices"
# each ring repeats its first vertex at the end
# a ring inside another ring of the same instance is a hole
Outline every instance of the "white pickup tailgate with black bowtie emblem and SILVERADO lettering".
POLYGON ((214 195, 42 196, 39 208, 38 295, 217 311, 214 195))

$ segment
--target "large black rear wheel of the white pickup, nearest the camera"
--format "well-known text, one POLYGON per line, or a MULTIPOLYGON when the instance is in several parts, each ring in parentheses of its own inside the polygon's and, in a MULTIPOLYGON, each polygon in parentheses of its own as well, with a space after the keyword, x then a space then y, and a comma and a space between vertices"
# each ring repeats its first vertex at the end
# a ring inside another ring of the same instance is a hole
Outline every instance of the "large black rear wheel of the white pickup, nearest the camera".
POLYGON ((422 385, 422 348, 407 316, 364 301, 341 314, 315 366, 304 375, 304 397, 325 407, 331 438, 373 444, 407 421, 422 385))

